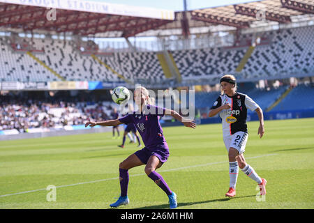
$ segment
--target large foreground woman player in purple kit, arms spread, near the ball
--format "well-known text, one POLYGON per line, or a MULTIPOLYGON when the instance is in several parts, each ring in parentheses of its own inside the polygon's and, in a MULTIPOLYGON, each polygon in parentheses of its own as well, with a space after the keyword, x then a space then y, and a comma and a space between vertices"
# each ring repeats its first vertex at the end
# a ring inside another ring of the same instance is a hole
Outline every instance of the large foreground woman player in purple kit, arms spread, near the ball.
POLYGON ((115 203, 110 204, 110 207, 118 207, 129 203, 127 196, 129 175, 128 170, 146 164, 145 173, 151 180, 154 180, 169 197, 170 208, 177 208, 177 194, 170 190, 163 177, 156 172, 169 157, 169 147, 163 136, 163 129, 159 123, 158 116, 169 114, 178 121, 181 121, 186 127, 195 128, 193 121, 183 118, 177 112, 163 107, 157 107, 151 104, 149 92, 144 87, 137 87, 134 91, 134 99, 139 111, 128 114, 123 118, 108 120, 103 122, 87 122, 87 126, 115 126, 120 124, 134 123, 138 132, 142 137, 145 147, 140 151, 136 151, 119 164, 119 180, 121 194, 115 203))

